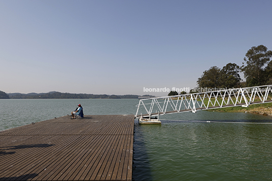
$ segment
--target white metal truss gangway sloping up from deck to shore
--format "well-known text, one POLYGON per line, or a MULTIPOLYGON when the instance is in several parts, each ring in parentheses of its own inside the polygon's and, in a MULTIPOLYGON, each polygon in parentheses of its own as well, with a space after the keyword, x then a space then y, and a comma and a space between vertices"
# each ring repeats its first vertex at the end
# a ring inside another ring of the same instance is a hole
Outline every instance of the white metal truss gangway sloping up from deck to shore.
POLYGON ((140 99, 135 118, 272 102, 272 85, 140 99))

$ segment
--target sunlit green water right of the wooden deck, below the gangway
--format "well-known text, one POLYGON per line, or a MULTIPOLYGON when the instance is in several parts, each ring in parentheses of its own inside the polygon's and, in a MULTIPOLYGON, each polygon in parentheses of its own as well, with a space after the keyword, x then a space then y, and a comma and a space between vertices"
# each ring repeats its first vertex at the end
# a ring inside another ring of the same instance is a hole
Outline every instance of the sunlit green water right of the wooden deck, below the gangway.
MULTIPOLYGON (((162 121, 161 126, 139 126, 144 136, 148 162, 144 160, 134 165, 138 169, 137 164, 148 163, 152 175, 148 178, 152 180, 272 178, 270 153, 272 124, 258 124, 271 123, 270 117, 216 112, 165 117, 184 121, 166 120, 162 121), (193 122, 196 120, 197 122, 193 122)), ((137 154, 134 158, 137 158, 137 154)), ((138 170, 141 171, 144 170, 138 170)), ((141 176, 138 178, 144 180, 141 176)))

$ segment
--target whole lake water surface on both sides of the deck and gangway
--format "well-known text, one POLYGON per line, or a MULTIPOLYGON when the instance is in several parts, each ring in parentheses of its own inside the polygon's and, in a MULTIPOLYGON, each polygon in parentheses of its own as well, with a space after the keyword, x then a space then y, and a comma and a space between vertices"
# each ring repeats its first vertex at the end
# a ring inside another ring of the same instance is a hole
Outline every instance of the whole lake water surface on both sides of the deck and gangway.
MULTIPOLYGON (((0 99, 0 130, 70 114, 79 103, 85 115, 135 114, 138 100, 0 99)), ((272 179, 270 117, 199 111, 160 119, 135 120, 133 180, 272 179)))

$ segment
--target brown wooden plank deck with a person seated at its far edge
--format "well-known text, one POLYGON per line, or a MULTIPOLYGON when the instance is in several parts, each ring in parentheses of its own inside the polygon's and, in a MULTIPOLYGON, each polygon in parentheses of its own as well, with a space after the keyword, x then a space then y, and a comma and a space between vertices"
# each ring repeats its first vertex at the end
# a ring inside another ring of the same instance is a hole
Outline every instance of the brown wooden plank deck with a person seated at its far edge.
POLYGON ((64 116, 0 132, 0 180, 132 180, 134 115, 64 116))

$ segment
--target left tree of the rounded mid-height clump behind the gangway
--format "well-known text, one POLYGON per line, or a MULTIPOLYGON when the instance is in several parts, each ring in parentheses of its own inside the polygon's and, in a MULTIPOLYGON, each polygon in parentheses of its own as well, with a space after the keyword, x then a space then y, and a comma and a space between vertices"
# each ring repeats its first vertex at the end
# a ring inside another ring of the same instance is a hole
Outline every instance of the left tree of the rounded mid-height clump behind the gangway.
POLYGON ((220 68, 212 66, 209 70, 203 71, 201 78, 198 78, 197 85, 202 88, 220 87, 220 68))

